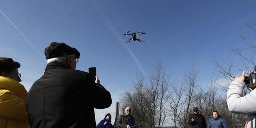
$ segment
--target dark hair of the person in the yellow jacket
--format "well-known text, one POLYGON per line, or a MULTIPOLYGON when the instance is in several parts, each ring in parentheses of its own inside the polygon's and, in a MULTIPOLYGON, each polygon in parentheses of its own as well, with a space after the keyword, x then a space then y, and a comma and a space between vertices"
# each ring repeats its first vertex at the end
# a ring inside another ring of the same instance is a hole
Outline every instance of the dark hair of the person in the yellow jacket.
POLYGON ((11 73, 14 69, 20 68, 20 63, 13 61, 12 58, 0 57, 0 75, 3 72, 11 73))

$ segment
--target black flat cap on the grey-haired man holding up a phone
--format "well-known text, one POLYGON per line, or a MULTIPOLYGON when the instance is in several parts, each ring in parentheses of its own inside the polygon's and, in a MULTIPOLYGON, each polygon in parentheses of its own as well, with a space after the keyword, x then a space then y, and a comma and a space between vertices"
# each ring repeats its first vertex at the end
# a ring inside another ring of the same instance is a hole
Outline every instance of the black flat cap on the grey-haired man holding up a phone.
POLYGON ((72 54, 75 54, 76 58, 80 58, 80 53, 77 51, 77 49, 70 47, 65 43, 52 42, 48 47, 44 49, 44 55, 46 59, 72 54))

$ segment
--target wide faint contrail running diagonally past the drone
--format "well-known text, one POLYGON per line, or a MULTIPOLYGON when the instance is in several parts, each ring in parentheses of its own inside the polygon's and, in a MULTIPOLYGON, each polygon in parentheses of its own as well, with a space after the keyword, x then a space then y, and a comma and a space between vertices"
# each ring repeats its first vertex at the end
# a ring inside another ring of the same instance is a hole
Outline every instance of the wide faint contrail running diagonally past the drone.
POLYGON ((132 57, 132 59, 135 61, 136 65, 138 66, 138 68, 141 70, 141 72, 145 75, 145 71, 143 70, 140 62, 138 61, 138 59, 136 58, 136 56, 133 54, 133 52, 131 51, 131 49, 127 46, 126 41, 124 41, 121 37, 120 37, 120 34, 117 32, 117 30, 115 29, 115 27, 111 24, 111 22, 108 20, 107 17, 105 17, 103 15, 103 11, 101 10, 100 6, 98 5, 97 1, 95 0, 91 0, 95 3, 95 5, 97 6, 99 12, 100 12, 100 15, 101 17, 104 19, 104 21, 106 21, 106 25, 109 29, 111 29, 111 31, 113 32, 114 36, 116 39, 118 39, 118 41, 125 47, 125 49, 128 51, 128 53, 130 54, 130 56, 132 57))

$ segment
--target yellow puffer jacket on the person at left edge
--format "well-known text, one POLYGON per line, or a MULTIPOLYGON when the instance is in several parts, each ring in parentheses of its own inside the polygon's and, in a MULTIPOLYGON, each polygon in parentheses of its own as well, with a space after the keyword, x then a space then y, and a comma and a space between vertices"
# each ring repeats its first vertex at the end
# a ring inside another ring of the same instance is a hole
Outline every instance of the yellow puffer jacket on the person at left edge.
POLYGON ((29 128, 24 104, 26 96, 22 84, 0 76, 0 128, 29 128))

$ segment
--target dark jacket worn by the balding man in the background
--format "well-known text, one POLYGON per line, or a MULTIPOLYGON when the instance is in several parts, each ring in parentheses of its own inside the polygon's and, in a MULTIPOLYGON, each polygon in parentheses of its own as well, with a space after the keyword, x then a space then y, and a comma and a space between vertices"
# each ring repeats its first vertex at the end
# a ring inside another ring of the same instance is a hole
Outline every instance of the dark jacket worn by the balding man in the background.
POLYGON ((134 122, 134 117, 132 115, 120 115, 116 121, 116 127, 117 128, 126 128, 126 126, 128 125, 128 118, 130 118, 131 120, 131 124, 132 126, 135 124, 134 122))

